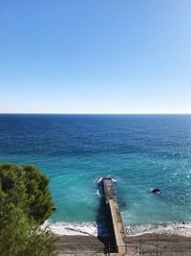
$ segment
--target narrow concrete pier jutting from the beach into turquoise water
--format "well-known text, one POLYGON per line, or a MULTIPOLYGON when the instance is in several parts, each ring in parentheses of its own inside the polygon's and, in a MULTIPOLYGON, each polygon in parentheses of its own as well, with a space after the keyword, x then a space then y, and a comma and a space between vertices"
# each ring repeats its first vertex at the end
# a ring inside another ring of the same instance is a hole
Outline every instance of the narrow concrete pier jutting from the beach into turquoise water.
POLYGON ((120 216, 117 196, 114 190, 112 178, 103 178, 103 189, 105 203, 107 207, 108 221, 110 225, 112 245, 116 252, 124 253, 125 246, 123 244, 124 228, 120 216))

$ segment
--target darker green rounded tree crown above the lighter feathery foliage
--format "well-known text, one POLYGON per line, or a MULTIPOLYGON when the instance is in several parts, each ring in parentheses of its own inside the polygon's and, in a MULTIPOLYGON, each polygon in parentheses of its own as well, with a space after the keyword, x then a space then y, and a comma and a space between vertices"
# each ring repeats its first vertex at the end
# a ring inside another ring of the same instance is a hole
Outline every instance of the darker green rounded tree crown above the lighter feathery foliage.
POLYGON ((3 199, 23 209, 38 223, 52 213, 49 180, 31 165, 0 164, 0 200, 3 199))

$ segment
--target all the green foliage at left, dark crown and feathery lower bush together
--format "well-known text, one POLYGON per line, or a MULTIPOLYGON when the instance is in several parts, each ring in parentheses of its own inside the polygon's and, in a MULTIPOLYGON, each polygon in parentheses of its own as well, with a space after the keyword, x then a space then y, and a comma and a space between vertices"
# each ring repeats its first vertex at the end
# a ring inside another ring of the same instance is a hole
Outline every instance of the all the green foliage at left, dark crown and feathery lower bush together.
POLYGON ((40 228, 52 212, 48 184, 33 166, 0 164, 1 256, 56 255, 56 237, 40 228))

